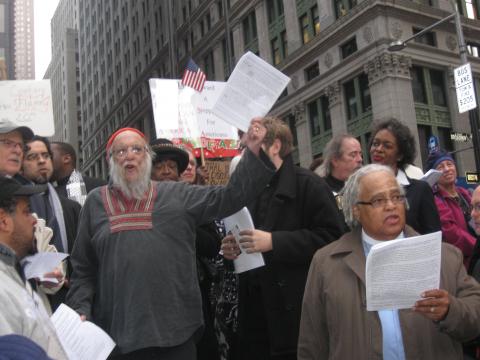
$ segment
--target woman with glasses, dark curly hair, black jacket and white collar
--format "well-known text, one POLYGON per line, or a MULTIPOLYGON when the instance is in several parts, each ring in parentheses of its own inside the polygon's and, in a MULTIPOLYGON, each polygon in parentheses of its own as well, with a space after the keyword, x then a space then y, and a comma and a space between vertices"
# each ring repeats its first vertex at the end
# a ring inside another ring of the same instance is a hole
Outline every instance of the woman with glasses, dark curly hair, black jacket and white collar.
POLYGON ((405 167, 413 163, 416 146, 410 129, 396 119, 377 122, 370 138, 370 159, 374 164, 392 168, 407 198, 407 224, 419 234, 440 231, 440 219, 432 189, 422 181, 409 178, 405 167))

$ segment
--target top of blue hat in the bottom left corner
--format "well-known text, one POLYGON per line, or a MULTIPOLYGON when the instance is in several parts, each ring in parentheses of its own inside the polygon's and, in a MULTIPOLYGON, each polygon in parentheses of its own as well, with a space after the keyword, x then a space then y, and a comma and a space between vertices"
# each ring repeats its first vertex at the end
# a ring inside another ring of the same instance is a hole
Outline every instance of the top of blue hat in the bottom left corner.
POLYGON ((0 336, 0 360, 48 360, 45 350, 21 335, 0 336))

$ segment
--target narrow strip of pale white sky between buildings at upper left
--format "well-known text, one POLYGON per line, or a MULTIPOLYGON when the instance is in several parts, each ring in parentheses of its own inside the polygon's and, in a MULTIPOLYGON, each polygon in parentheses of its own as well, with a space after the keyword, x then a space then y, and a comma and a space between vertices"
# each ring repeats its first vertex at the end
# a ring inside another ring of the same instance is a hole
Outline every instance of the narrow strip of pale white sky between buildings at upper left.
POLYGON ((34 0, 35 78, 43 79, 52 56, 50 20, 59 0, 34 0))

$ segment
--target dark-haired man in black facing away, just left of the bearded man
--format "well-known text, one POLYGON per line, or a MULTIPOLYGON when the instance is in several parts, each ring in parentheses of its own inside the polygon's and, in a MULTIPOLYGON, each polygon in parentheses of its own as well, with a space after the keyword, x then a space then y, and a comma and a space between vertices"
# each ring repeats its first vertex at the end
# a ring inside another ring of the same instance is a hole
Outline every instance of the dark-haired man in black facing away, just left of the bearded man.
POLYGON ((50 181, 54 183, 59 195, 83 205, 90 191, 107 184, 103 179, 92 178, 76 170, 77 154, 72 145, 55 141, 50 148, 53 161, 50 181))

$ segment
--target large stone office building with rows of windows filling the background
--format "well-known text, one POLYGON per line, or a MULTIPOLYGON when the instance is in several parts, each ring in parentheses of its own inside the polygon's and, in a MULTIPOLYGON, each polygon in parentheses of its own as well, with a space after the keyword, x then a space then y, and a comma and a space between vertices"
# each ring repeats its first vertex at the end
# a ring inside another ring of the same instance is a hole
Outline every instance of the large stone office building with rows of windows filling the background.
MULTIPOLYGON (((477 1, 458 4, 478 89, 477 1)), ((106 176, 105 144, 119 127, 154 136, 148 79, 179 78, 192 57, 224 81, 245 51, 291 77, 271 112, 291 126, 303 166, 338 132, 354 134, 368 159, 371 123, 388 117, 416 135, 419 166, 430 135, 448 150, 471 146, 450 140, 470 132, 456 105, 454 25, 387 50, 452 11, 446 0, 79 0, 84 170, 106 176)), ((461 154, 460 171, 474 170, 473 152, 461 154)))

